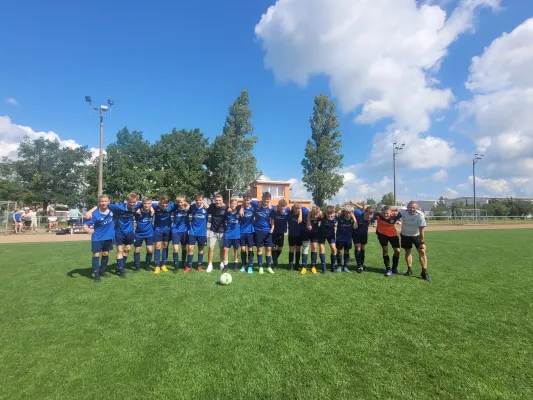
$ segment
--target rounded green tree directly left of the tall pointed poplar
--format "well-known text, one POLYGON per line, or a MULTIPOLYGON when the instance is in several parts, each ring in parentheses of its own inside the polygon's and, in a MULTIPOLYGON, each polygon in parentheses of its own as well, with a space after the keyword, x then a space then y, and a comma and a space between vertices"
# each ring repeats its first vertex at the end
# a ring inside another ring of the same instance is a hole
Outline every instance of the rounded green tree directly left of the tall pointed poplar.
POLYGON ((152 146, 154 196, 184 194, 188 199, 205 190, 209 141, 200 129, 176 130, 161 135, 152 146))

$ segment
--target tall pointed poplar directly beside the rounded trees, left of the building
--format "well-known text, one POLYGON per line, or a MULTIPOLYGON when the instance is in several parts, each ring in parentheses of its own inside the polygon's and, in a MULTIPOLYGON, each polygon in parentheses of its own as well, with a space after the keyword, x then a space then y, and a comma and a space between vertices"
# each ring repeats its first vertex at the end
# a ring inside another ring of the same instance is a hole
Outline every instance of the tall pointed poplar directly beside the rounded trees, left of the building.
POLYGON ((236 195, 243 195, 250 182, 261 175, 252 153, 258 137, 252 135, 254 128, 249 103, 248 91, 243 90, 229 107, 222 135, 215 138, 207 156, 209 178, 206 191, 210 195, 220 192, 226 201, 229 200, 226 188, 232 189, 236 195))

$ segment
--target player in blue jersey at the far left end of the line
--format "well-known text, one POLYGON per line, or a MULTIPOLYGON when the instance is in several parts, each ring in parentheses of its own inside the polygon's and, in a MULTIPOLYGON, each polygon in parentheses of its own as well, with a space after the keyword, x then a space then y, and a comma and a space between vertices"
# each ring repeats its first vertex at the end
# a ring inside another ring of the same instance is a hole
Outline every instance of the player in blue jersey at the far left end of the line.
MULTIPOLYGON (((100 277, 109 277, 107 264, 109 262, 109 252, 113 250, 113 239, 115 237, 115 224, 113 212, 109 209, 109 197, 102 195, 98 198, 98 209, 94 211, 90 220, 85 220, 83 230, 91 235, 91 252, 93 253, 92 267, 94 282, 100 282, 100 277), (100 261, 100 254, 102 260, 100 261)), ((123 271, 121 278, 125 278, 123 271)))

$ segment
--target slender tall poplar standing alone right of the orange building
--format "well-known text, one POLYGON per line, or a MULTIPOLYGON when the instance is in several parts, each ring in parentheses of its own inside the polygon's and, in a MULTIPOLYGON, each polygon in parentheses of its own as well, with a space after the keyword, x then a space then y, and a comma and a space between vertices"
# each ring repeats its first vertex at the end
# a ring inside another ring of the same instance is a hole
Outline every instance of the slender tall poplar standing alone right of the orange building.
POLYGON ((341 154, 342 134, 338 129, 335 103, 324 94, 315 97, 309 122, 311 139, 305 146, 302 181, 315 204, 322 207, 344 184, 344 177, 339 173, 344 156, 341 154))

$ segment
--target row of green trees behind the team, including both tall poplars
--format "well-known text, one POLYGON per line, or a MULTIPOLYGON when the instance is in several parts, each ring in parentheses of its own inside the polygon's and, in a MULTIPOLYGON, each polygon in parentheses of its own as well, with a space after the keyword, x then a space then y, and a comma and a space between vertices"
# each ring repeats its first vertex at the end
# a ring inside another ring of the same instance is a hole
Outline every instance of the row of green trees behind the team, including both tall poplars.
MULTIPOLYGON (((257 168, 252 111, 247 90, 230 105, 222 133, 210 142, 199 129, 172 129, 154 143, 127 127, 105 149, 103 190, 112 201, 130 192, 157 198, 163 194, 220 193, 242 196, 261 176, 257 168)), ((305 187, 324 206, 343 186, 341 137, 335 103, 315 97, 309 120, 311 138, 302 160, 305 187)), ((24 137, 18 157, 0 161, 0 200, 25 204, 95 204, 98 157, 87 146, 61 147, 59 141, 24 137)))

